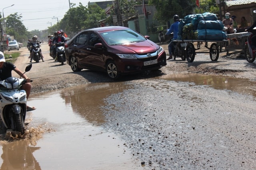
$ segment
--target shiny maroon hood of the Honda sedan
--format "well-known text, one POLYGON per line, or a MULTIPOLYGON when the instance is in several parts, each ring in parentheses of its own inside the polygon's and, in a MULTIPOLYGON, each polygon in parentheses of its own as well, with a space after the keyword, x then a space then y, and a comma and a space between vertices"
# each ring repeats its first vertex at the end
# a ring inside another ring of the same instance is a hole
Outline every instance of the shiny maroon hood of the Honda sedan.
POLYGON ((159 49, 159 46, 150 40, 111 46, 117 54, 145 54, 153 53, 159 49))

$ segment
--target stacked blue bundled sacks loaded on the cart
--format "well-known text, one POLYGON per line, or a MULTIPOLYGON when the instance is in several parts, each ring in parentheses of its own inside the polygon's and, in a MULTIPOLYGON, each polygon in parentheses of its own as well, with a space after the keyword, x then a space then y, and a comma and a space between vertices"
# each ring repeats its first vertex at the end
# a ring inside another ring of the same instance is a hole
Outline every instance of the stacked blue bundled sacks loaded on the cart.
POLYGON ((180 21, 178 39, 221 41, 227 37, 223 27, 215 14, 191 14, 180 21))

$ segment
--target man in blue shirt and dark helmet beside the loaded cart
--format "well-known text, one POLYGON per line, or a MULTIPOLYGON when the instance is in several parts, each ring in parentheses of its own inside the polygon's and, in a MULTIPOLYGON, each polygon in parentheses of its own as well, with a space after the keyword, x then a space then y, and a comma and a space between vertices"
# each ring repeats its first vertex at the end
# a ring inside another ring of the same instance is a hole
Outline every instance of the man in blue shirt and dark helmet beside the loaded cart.
MULTIPOLYGON (((173 33, 172 40, 178 38, 178 28, 179 28, 179 24, 180 24, 180 18, 179 18, 178 15, 174 15, 173 20, 174 20, 174 23, 171 25, 170 29, 166 33, 166 35, 169 35, 170 33, 173 33)), ((175 45, 176 45, 176 43, 174 43, 172 41, 168 45, 169 57, 166 60, 172 59, 172 51, 173 51, 175 45)))

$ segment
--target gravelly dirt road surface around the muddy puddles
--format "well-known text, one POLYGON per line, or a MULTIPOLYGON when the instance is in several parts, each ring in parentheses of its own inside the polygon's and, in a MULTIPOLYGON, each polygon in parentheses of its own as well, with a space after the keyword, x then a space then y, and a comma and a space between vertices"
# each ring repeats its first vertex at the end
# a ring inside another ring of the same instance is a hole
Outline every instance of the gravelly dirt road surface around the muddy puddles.
MULTIPOLYGON (((67 64, 61 66, 48 55, 47 45, 42 45, 42 51, 45 62, 33 63, 27 73, 34 80, 33 93, 112 82, 102 72, 74 73, 67 64)), ((16 65, 24 70, 28 63, 24 50, 16 65)), ((157 79, 164 74, 193 72, 255 80, 255 68, 245 59, 220 57, 212 62, 208 55, 200 54, 193 63, 177 59, 168 61, 162 72, 126 76, 120 81, 131 88, 104 98, 98 111, 106 119, 102 126, 122 138, 120 145, 132 152, 137 166, 145 162, 144 170, 255 169, 253 96, 157 79)))

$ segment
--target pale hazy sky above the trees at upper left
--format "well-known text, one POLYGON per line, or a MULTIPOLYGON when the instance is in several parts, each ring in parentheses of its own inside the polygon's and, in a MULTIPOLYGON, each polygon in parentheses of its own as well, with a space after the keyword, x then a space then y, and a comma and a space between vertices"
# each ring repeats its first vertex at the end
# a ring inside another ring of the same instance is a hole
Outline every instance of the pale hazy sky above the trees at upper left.
POLYGON ((1 15, 4 12, 4 18, 17 12, 22 16, 21 21, 28 31, 44 30, 64 17, 69 10, 69 2, 75 3, 74 7, 77 7, 79 2, 88 6, 88 2, 101 1, 108 0, 1 0, 0 12, 1 15))

